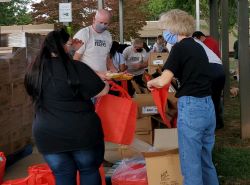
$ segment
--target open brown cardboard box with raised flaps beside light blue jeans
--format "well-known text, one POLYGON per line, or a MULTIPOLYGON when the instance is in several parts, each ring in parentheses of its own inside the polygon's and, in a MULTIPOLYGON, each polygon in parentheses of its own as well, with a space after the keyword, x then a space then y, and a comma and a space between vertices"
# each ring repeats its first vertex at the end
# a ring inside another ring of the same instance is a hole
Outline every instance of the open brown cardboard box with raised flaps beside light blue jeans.
MULTIPOLYGON (((177 129, 155 129, 153 132, 155 135, 153 145, 139 139, 135 139, 130 146, 122 145, 119 148, 121 159, 144 156, 149 185, 181 185, 183 179, 178 154, 177 129)), ((115 171, 114 168, 109 172, 110 176, 115 171)))

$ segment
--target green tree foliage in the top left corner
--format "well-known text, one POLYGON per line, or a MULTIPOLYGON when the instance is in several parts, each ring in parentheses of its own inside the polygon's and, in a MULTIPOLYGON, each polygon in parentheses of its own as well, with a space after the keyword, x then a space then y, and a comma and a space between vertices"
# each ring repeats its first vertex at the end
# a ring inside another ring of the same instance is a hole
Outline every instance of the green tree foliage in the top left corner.
POLYGON ((32 17, 28 13, 27 5, 30 0, 11 0, 1 3, 0 6, 0 26, 23 25, 32 22, 32 17))

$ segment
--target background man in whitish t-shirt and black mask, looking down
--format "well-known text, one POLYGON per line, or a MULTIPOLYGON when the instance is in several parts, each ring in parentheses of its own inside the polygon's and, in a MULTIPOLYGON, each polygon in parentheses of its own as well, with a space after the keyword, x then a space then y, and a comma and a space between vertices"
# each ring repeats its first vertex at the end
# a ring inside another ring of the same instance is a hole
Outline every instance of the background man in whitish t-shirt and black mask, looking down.
MULTIPOLYGON (((123 56, 126 61, 127 71, 134 75, 135 82, 142 87, 145 84, 142 80, 142 75, 145 68, 148 66, 148 53, 143 48, 143 40, 136 38, 132 46, 128 46, 123 51, 123 56)), ((134 93, 130 81, 128 82, 129 94, 132 96, 134 93)))

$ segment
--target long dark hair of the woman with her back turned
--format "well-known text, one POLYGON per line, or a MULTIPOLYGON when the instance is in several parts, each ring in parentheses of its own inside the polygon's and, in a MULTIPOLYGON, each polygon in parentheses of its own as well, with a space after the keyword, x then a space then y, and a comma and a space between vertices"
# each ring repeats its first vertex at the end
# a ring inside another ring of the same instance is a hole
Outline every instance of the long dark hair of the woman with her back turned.
MULTIPOLYGON (((24 85, 27 93, 32 97, 32 100, 35 104, 41 98, 43 70, 45 63, 51 65, 50 60, 52 58, 52 53, 63 62, 67 72, 68 83, 71 84, 72 80, 70 79, 72 79, 72 75, 69 74, 69 64, 72 63, 72 61, 63 47, 69 40, 69 37, 69 34, 64 29, 48 33, 44 39, 40 53, 28 66, 27 72, 25 74, 24 85)), ((51 73, 53 72, 51 71, 51 73)))

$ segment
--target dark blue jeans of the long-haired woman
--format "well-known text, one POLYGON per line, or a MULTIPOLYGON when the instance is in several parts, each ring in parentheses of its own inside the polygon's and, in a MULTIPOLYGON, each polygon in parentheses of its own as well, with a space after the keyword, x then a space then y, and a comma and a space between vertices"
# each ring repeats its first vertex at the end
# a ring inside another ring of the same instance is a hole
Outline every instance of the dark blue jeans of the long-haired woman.
POLYGON ((43 157, 55 175, 56 185, 76 185, 77 170, 80 185, 101 185, 99 167, 104 158, 104 142, 89 150, 44 154, 43 157))

